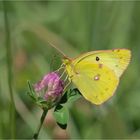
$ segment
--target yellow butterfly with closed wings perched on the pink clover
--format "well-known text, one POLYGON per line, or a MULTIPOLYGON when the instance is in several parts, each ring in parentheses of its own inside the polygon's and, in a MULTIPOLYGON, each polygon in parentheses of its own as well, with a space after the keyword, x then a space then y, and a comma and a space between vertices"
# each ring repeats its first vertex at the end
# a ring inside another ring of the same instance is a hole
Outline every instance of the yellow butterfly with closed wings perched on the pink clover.
POLYGON ((131 59, 128 49, 92 51, 63 63, 69 80, 90 102, 100 105, 113 96, 131 59))

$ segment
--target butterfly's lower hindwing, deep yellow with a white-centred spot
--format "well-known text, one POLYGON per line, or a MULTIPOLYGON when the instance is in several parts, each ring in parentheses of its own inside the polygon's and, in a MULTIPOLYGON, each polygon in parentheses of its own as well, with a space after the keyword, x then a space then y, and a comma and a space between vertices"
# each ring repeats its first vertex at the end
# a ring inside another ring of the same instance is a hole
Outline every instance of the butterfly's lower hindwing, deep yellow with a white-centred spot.
POLYGON ((115 73, 106 66, 100 69, 98 64, 84 63, 77 65, 75 70, 72 82, 88 101, 96 105, 108 100, 119 83, 115 73))

